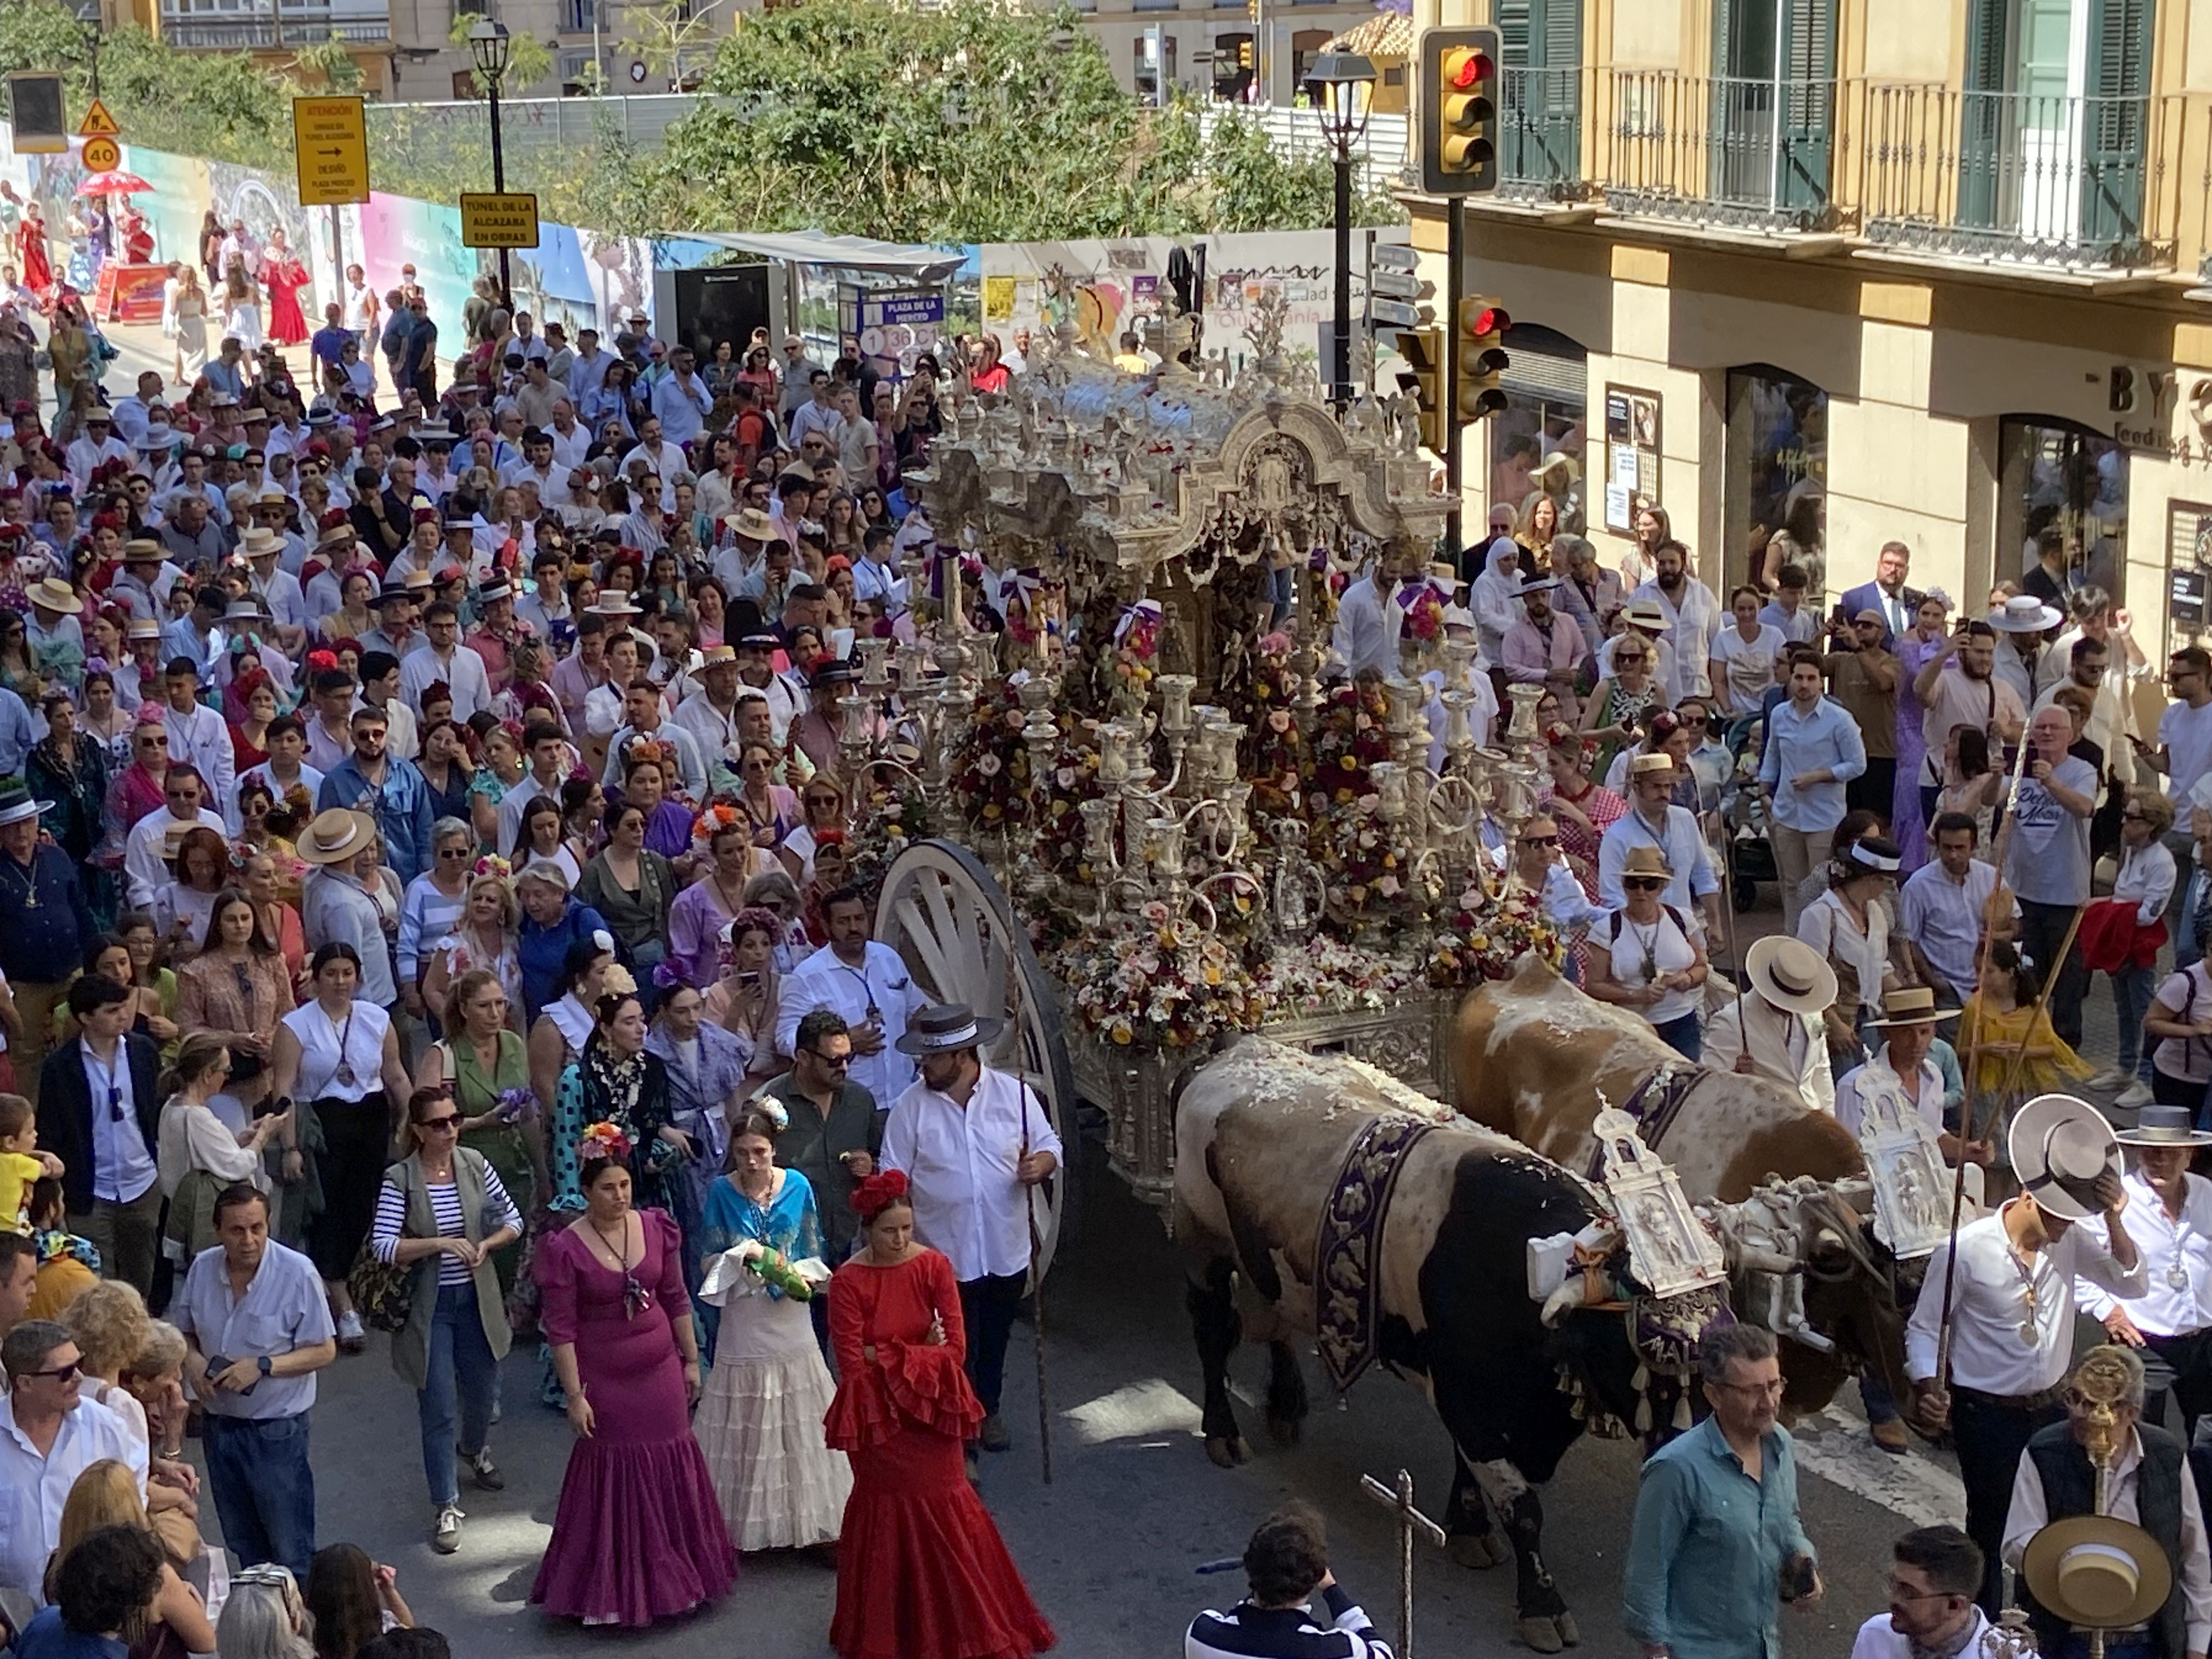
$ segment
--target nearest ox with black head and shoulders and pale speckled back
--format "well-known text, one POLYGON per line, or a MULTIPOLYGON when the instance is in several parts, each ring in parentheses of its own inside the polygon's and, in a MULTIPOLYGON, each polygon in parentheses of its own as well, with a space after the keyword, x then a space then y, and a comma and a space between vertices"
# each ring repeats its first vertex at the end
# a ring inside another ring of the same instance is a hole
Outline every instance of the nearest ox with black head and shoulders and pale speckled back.
MULTIPOLYGON (((1223 1467, 1250 1455, 1228 1391, 1230 1354, 1248 1334, 1272 1354, 1267 1425, 1276 1440, 1296 1440, 1307 1396, 1290 1338, 1316 1334, 1316 1303, 1354 1294, 1321 1270, 1321 1228, 1347 1152, 1376 1119, 1433 1128, 1402 1152, 1387 1206, 1358 1210, 1378 1225, 1360 1254, 1376 1294, 1374 1354, 1429 1396, 1451 1433, 1453 1557, 1495 1566, 1511 1548, 1520 1637, 1557 1652, 1579 1635, 1544 1566, 1537 1486, 1588 1427, 1562 1378, 1588 1416, 1635 1422, 1644 1405, 1666 1425, 1688 1367, 1672 1367, 1679 1380, 1644 1369, 1652 1347, 1630 1332, 1650 1329, 1639 1323, 1648 1303, 1575 1307, 1544 1323, 1528 1298, 1528 1241, 1579 1232, 1599 1210, 1593 1188, 1526 1146, 1356 1060, 1261 1037, 1188 1068, 1177 1084, 1175 1239, 1190 1270, 1206 1451, 1223 1467), (1484 1498, 1504 1522, 1504 1548, 1484 1498)), ((1635 1294, 1619 1272, 1613 1281, 1613 1294, 1635 1294)))

